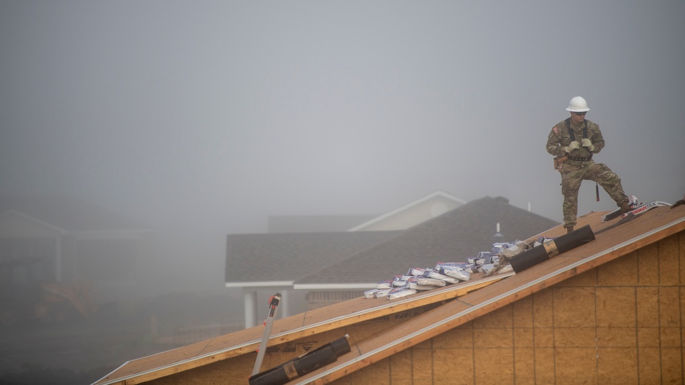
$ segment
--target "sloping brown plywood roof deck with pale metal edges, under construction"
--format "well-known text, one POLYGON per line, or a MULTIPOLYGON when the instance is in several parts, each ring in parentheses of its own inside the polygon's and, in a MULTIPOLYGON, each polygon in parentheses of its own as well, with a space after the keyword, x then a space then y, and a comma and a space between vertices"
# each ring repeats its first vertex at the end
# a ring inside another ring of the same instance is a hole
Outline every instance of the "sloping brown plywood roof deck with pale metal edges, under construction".
MULTIPOLYGON (((615 220, 602 223, 603 214, 605 213, 591 212, 581 216, 578 226, 589 224, 597 233, 616 223, 615 220)), ((673 210, 668 207, 656 208, 636 217, 634 221, 597 234, 597 239, 591 243, 533 266, 506 280, 481 281, 474 277, 474 280, 463 287, 446 286, 393 301, 385 298, 359 298, 277 320, 272 329, 269 346, 341 325, 373 319, 383 314, 400 312, 413 306, 425 306, 428 303, 458 297, 455 301, 447 301, 385 332, 358 341, 350 353, 339 358, 334 364, 293 382, 323 384, 683 229, 685 206, 673 210), (479 282, 483 284, 482 287, 477 285, 479 282), (474 286, 466 288, 470 285, 474 286), (477 287, 479 290, 474 290, 477 287), (473 291, 467 294, 469 290, 473 291)), ((544 232, 545 236, 550 237, 562 234, 562 227, 544 232)), ((244 353, 252 353, 258 347, 262 334, 263 326, 252 327, 202 343, 132 360, 95 384, 140 383, 244 353)))

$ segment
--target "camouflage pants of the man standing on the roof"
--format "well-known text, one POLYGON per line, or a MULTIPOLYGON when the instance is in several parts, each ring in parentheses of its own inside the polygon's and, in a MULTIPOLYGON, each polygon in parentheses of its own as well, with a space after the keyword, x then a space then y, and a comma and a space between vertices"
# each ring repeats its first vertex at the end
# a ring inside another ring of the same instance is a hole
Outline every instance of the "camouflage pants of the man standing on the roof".
POLYGON ((578 214, 578 190, 584 179, 599 183, 609 196, 616 201, 616 206, 627 202, 623 192, 621 178, 604 164, 588 162, 564 162, 562 169, 562 194, 564 195, 564 227, 576 225, 578 214))

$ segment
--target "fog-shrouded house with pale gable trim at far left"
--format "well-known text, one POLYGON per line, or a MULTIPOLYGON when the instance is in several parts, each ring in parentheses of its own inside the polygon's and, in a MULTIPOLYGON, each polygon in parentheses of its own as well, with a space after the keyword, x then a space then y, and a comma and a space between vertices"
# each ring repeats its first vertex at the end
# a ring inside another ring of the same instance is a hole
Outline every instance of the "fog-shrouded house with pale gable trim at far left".
POLYGON ((0 283, 92 282, 101 301, 136 290, 152 249, 142 223, 65 195, 0 197, 0 283))

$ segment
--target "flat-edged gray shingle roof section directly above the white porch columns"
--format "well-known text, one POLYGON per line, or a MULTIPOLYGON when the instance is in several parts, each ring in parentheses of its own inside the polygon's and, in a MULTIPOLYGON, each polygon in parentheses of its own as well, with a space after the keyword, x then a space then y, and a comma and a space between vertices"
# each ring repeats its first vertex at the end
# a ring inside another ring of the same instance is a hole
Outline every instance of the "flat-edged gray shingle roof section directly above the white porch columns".
POLYGON ((292 282, 398 234, 231 234, 226 239, 226 283, 292 282))

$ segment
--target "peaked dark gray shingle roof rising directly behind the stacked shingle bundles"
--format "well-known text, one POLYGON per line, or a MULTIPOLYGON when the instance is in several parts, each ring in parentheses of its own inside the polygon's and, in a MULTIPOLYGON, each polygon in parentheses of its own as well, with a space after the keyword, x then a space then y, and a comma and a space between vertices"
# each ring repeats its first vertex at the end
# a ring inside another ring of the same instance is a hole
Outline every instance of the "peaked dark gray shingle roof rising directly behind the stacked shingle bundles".
POLYGON ((530 238, 559 225, 544 216, 509 205, 503 197, 471 201, 399 236, 296 280, 295 284, 379 282, 411 267, 461 262, 490 251, 492 243, 530 238), (500 223, 501 238, 495 238, 500 223))

